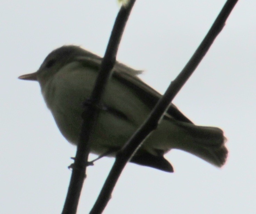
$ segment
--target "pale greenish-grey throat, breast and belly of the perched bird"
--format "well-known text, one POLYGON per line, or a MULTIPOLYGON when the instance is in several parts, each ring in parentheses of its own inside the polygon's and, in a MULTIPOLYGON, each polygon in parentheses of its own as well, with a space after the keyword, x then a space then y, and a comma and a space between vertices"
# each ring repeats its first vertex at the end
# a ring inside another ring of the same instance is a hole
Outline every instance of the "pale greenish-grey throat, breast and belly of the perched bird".
MULTIPOLYGON (((79 142, 84 110, 82 104, 91 95, 96 74, 90 70, 58 72, 42 89, 60 132, 72 144, 79 142)), ((90 136, 91 152, 96 154, 121 148, 150 112, 149 107, 132 90, 114 79, 110 80, 102 103, 116 109, 121 116, 106 109, 100 110, 90 136)))

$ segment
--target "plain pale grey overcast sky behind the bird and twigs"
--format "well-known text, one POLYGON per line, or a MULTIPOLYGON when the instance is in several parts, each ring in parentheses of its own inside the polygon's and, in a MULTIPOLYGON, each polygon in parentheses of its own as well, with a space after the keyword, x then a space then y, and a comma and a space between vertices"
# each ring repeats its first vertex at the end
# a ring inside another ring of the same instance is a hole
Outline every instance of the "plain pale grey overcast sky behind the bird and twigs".
MULTIPOLYGON (((163 93, 224 2, 138 0, 118 60, 145 70, 141 78, 163 93)), ((239 1, 174 100, 196 124, 223 128, 226 165, 217 169, 177 150, 166 155, 172 174, 130 163, 105 214, 255 212, 255 8, 254 0, 239 1)), ((17 77, 37 70, 64 44, 103 55, 117 12, 115 0, 1 1, 0 213, 60 213, 76 149, 58 131, 39 84, 17 77)), ((78 213, 89 212, 113 161, 88 168, 78 213)))

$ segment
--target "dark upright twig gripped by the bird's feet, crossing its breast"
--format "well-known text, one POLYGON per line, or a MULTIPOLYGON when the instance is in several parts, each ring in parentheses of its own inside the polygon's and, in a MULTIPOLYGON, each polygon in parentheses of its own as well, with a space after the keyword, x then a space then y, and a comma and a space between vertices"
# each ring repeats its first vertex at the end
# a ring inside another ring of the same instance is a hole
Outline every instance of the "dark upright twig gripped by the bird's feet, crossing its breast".
POLYGON ((79 197, 83 187, 83 181, 86 177, 86 165, 88 161, 88 155, 90 152, 90 133, 93 130, 95 121, 97 121, 98 108, 103 93, 105 91, 108 79, 110 78, 112 68, 116 62, 116 54, 119 43, 121 41, 125 24, 130 15, 131 9, 135 0, 131 0, 129 5, 121 7, 118 12, 108 46, 105 52, 105 56, 102 60, 99 75, 96 80, 95 87, 92 91, 90 99, 87 101, 90 103, 84 110, 83 124, 81 128, 80 140, 77 145, 75 162, 72 164, 72 176, 68 187, 68 193, 66 196, 64 208, 62 214, 75 214, 79 203, 79 197))

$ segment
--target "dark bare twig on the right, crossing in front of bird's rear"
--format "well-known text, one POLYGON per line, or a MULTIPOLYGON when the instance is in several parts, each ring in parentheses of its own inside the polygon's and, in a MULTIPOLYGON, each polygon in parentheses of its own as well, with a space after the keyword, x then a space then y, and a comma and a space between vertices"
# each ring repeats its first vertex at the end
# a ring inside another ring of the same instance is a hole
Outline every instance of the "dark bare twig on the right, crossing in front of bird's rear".
POLYGON ((189 62, 185 65, 184 69, 180 72, 176 79, 171 82, 170 86, 164 93, 163 97, 158 101, 157 105, 152 110, 147 120, 140 126, 137 132, 133 134, 130 140, 117 154, 115 163, 105 181, 104 186, 101 189, 98 199, 94 204, 90 214, 98 214, 103 212, 116 185, 116 182, 125 167, 125 164, 131 159, 132 155, 142 144, 143 140, 146 139, 150 132, 152 132, 157 127, 158 122, 162 118, 162 115, 167 110, 173 98, 182 88, 184 83, 188 80, 193 71, 197 68, 198 64, 209 50, 215 38, 221 32, 222 28, 225 25, 226 19, 230 15, 237 1, 238 0, 228 0, 225 3, 214 24, 210 28, 209 32, 207 33, 204 40, 201 42, 189 62))

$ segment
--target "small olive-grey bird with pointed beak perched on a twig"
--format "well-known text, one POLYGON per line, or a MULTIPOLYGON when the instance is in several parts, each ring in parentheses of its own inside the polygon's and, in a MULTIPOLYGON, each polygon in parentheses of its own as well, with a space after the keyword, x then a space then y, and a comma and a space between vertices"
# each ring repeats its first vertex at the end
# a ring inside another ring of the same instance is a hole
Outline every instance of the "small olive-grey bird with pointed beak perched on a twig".
MULTIPOLYGON (((38 71, 19 77, 38 81, 41 92, 63 136, 77 144, 81 132, 83 103, 90 97, 102 58, 79 46, 62 46, 52 51, 38 71)), ((147 118, 161 95, 142 82, 134 70, 116 62, 104 93, 91 138, 90 152, 115 157, 116 151, 147 118)), ((180 149, 217 166, 225 163, 223 131, 197 126, 170 104, 157 129, 144 141, 130 162, 167 172, 173 167, 164 154, 180 149)))

